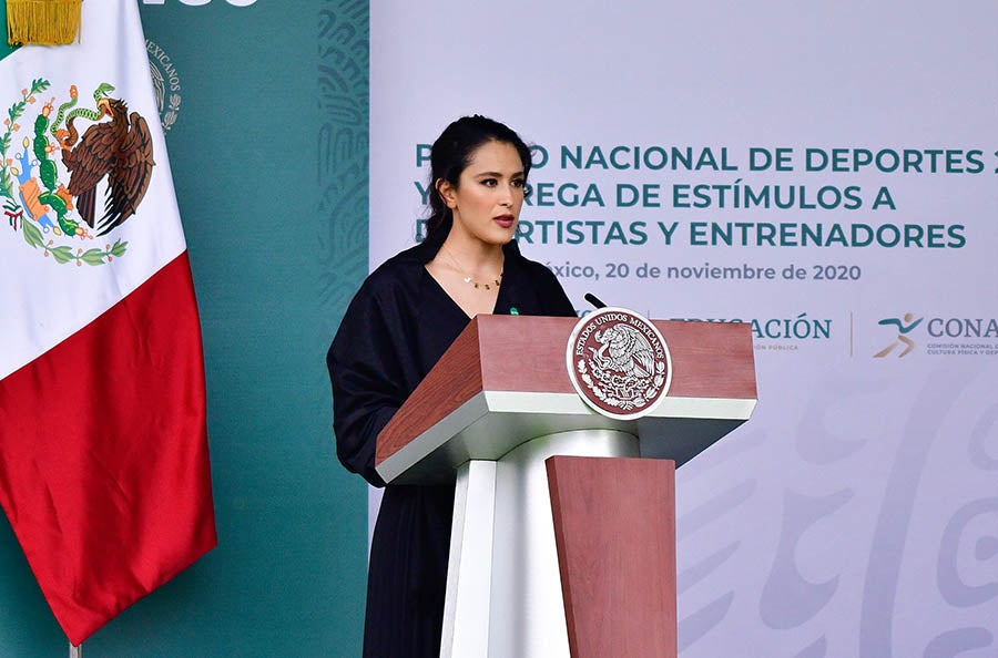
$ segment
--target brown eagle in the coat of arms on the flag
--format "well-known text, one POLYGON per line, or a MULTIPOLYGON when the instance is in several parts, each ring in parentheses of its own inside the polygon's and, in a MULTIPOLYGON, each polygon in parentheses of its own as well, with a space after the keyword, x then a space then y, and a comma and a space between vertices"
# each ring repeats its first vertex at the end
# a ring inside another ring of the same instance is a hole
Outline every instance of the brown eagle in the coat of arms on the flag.
POLYGON ((70 172, 69 193, 77 201, 80 216, 98 235, 104 235, 135 214, 135 209, 149 189, 153 161, 152 135, 149 124, 138 112, 129 113, 121 99, 106 94, 113 86, 105 85, 100 97, 95 93, 98 115, 94 123, 80 138, 70 116, 65 128, 55 137, 62 148, 62 163, 70 172), (101 122, 103 117, 110 121, 101 122), (79 140, 79 141, 78 141, 79 140), (104 210, 96 218, 98 184, 106 176, 104 210))

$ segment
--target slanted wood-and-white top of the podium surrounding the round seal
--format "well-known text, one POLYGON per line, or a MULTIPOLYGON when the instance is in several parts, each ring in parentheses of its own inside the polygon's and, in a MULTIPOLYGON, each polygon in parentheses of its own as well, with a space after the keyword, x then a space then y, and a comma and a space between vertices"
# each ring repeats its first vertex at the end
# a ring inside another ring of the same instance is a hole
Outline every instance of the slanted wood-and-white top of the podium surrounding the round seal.
POLYGON ((672 354, 672 384, 655 410, 621 421, 592 411, 566 369, 573 318, 477 316, 378 435, 386 482, 447 482, 469 459, 498 460, 520 443, 568 430, 637 435, 642 456, 685 463, 755 408, 750 325, 654 321, 672 354))

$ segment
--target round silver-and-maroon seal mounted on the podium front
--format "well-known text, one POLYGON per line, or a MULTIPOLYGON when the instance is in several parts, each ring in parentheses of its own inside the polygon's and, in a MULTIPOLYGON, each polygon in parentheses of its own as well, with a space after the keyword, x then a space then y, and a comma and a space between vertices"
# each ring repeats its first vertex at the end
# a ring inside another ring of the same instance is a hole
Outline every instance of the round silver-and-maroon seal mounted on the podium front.
POLYGON ((566 366, 587 404, 621 420, 651 412, 672 381, 672 358, 661 332, 622 308, 602 308, 579 320, 566 349, 566 366))

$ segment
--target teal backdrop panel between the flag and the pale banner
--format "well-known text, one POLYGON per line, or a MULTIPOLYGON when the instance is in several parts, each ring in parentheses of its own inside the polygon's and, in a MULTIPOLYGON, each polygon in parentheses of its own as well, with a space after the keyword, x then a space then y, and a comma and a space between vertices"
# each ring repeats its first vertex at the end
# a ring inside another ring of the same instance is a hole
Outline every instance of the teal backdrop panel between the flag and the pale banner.
MULTIPOLYGON (((336 460, 325 351, 367 273, 368 2, 140 8, 204 329, 220 544, 84 655, 359 656, 367 490, 336 460)), ((0 656, 64 656, 0 526, 0 656)))

